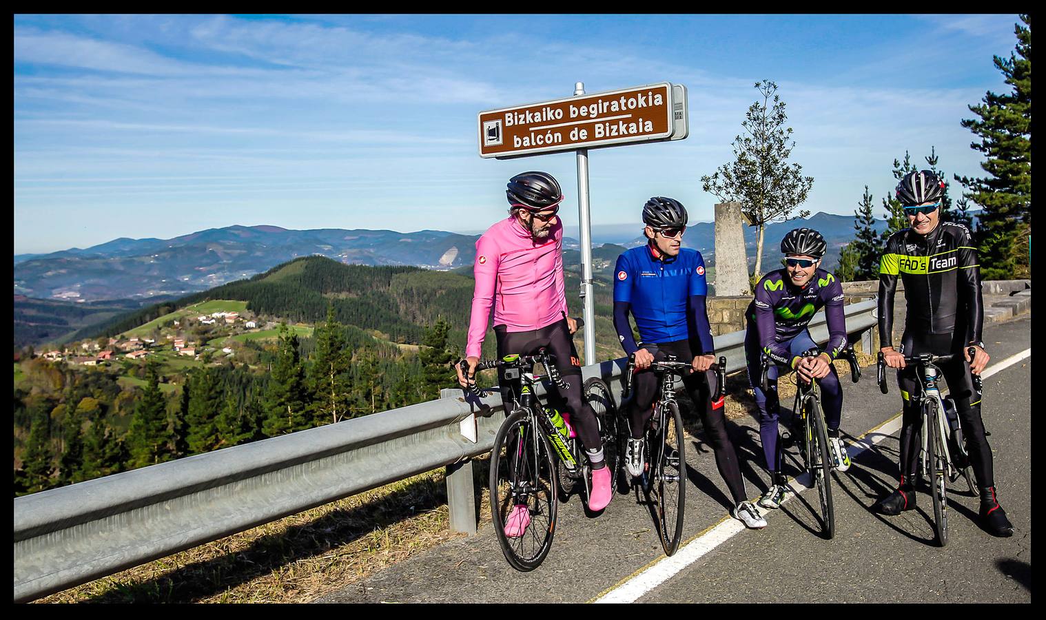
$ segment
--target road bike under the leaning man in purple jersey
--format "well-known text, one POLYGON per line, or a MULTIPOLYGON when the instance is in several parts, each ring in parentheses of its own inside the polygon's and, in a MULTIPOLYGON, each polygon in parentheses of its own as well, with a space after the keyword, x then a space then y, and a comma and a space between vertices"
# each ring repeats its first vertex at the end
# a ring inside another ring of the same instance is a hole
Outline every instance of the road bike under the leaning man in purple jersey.
MULTIPOLYGON (((803 352, 800 358, 815 358, 821 354, 818 348, 803 352)), ((839 354, 850 366, 850 380, 857 383, 861 378, 861 366, 857 363, 854 345, 847 345, 839 354)), ((769 354, 761 354, 761 373, 759 383, 764 393, 770 390, 769 370, 771 364, 776 364, 769 354)), ((788 368, 787 366, 783 366, 788 368)), ((790 369, 791 370, 791 369, 790 369)), ((832 504, 832 469, 838 466, 828 450, 828 433, 824 424, 824 410, 821 409, 820 380, 803 381, 796 372, 795 401, 792 406, 792 426, 797 432, 802 432, 799 442, 799 453, 802 456, 803 469, 810 474, 811 480, 817 486, 820 503, 821 533, 832 539, 836 535, 836 515, 832 504)), ((781 441, 777 442, 780 451, 781 441)), ((779 459, 778 459, 779 461, 779 459)))

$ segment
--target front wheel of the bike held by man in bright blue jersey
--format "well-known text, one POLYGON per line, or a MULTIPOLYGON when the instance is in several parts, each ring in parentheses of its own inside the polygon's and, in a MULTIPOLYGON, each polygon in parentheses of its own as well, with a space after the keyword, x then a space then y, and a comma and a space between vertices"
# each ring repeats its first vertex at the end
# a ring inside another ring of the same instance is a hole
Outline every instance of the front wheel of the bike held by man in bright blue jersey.
POLYGON ((679 406, 668 403, 664 424, 657 432, 656 456, 651 455, 653 485, 657 489, 658 535, 665 555, 679 549, 683 537, 683 511, 686 508, 686 459, 683 445, 683 416, 679 406))

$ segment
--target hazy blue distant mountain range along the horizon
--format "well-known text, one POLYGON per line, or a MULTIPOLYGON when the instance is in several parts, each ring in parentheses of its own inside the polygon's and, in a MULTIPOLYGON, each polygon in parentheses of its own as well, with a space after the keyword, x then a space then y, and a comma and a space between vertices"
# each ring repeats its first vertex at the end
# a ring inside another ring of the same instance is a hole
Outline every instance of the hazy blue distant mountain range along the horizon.
MULTIPOLYGON (((792 228, 816 228, 828 242, 825 267, 838 262, 839 249, 854 238, 854 217, 817 213, 767 227, 764 270, 776 267, 777 244, 792 228)), ((878 230, 886 223, 877 221, 878 230)), ((599 225, 597 244, 628 248, 641 245, 638 225, 599 225)), ((16 295, 77 303, 142 300, 206 291, 248 278, 300 256, 320 255, 339 262, 368 266, 412 266, 453 270, 472 265, 478 235, 439 230, 288 230, 276 226, 212 228, 169 239, 121 237, 87 249, 50 254, 15 255, 16 295)), ((749 269, 755 263, 755 229, 746 227, 749 269)), ((697 248, 714 266, 714 224, 687 228, 683 245, 697 248)), ((565 239, 567 250, 577 240, 565 239)), ((612 259, 602 257, 602 260, 612 259)))

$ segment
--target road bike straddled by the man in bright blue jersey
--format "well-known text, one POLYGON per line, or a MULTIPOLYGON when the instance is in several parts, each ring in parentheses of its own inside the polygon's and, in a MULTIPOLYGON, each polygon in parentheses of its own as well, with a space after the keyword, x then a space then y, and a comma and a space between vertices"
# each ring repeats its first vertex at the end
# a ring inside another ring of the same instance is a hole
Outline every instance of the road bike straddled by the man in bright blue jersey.
MULTIPOLYGON (((723 394, 726 380, 726 358, 711 369, 719 373, 720 381, 712 400, 723 394)), ((692 370, 689 362, 677 362, 676 355, 667 355, 665 361, 653 362, 650 371, 658 375, 658 397, 654 401, 654 415, 643 430, 643 473, 633 482, 636 493, 642 489, 646 502, 654 507, 654 522, 665 555, 673 555, 679 549, 683 537, 683 512, 686 499, 686 449, 683 440, 683 417, 676 401, 676 376, 682 377, 692 370)), ((629 357, 626 367, 624 395, 632 393, 635 372, 635 355, 629 357)), ((697 404, 696 404, 697 405, 697 404)), ((623 454, 624 442, 632 437, 630 420, 618 422, 618 454, 623 454)))

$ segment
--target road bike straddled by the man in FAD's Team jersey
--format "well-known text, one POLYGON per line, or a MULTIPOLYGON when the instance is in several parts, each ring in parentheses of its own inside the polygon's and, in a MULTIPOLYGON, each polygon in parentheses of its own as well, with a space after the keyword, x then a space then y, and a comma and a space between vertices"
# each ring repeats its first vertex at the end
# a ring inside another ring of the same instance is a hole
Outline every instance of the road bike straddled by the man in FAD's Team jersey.
MULTIPOLYGON (((974 347, 968 349, 971 359, 976 353, 974 347)), ((948 484, 958 480, 959 476, 965 478, 967 485, 974 495, 978 495, 977 485, 973 482, 972 468, 967 463, 958 462, 956 457, 960 455, 952 454, 953 447, 961 451, 961 437, 952 446, 949 445, 949 428, 946 421, 945 398, 940 395, 941 371, 937 364, 947 364, 956 355, 961 353, 949 353, 947 355, 934 355, 932 353, 919 353, 918 355, 905 355, 905 364, 916 367, 915 382, 917 392, 910 394, 911 403, 919 408, 922 412, 922 428, 919 429, 919 455, 918 474, 930 483, 930 497, 933 499, 933 532, 941 547, 948 545, 948 484)), ((889 392, 886 385, 886 360, 880 351, 876 363, 877 380, 879 389, 884 394, 889 392)), ((981 380, 976 374, 972 375, 974 388, 981 390, 981 380)), ((904 464, 902 464, 904 467, 904 464)))

